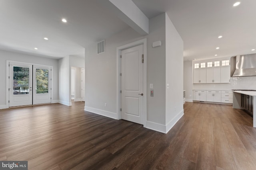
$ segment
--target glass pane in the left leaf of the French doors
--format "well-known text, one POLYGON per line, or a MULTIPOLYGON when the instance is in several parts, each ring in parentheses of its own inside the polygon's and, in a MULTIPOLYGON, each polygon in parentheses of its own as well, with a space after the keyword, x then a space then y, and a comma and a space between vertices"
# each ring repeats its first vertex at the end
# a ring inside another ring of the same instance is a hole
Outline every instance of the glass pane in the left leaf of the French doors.
POLYGON ((29 68, 13 67, 13 94, 28 94, 29 68))

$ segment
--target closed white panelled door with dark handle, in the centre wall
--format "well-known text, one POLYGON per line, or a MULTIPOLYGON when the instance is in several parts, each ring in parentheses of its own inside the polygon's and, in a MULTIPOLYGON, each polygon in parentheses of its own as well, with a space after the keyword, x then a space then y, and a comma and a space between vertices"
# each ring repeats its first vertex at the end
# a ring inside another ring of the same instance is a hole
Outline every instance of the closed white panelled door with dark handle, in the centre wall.
POLYGON ((143 124, 143 45, 122 50, 121 118, 143 124))

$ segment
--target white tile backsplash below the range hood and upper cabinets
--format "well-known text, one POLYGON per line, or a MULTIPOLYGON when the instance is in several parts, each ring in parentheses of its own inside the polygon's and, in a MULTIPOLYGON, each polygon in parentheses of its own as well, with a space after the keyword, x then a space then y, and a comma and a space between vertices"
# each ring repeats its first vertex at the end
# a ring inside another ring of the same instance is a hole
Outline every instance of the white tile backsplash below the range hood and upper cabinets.
POLYGON ((193 90, 256 90, 256 76, 231 77, 230 83, 193 84, 193 90))

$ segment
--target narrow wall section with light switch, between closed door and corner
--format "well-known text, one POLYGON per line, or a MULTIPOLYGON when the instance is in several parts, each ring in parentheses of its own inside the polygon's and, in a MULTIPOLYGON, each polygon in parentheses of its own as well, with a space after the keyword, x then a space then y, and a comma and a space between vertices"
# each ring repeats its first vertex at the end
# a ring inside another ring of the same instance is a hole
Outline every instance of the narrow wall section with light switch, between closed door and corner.
POLYGON ((147 36, 147 121, 165 125, 165 13, 151 18, 149 23, 150 33, 147 36), (152 43, 155 41, 161 41, 162 45, 152 48, 152 43), (154 85, 154 97, 150 97, 149 84, 154 85))

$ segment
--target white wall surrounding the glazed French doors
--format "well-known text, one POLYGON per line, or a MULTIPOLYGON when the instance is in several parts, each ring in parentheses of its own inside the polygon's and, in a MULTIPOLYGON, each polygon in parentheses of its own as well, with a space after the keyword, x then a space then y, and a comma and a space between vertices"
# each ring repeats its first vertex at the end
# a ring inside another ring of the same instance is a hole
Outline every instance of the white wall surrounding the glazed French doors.
POLYGON ((58 60, 0 50, 0 77, 2 80, 0 82, 0 89, 4 90, 4 93, 2 93, 2 96, 0 98, 0 108, 6 108, 5 90, 8 89, 8 87, 6 87, 6 61, 7 60, 52 66, 53 67, 52 102, 58 102, 58 60))

